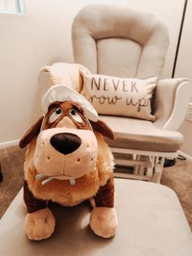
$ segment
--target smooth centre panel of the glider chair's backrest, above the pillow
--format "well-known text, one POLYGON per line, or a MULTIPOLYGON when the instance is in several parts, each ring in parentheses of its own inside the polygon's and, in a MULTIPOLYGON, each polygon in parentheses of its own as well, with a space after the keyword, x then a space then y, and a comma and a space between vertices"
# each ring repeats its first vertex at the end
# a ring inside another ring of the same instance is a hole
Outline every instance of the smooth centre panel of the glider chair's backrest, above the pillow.
POLYGON ((142 45, 129 38, 103 38, 97 41, 97 53, 98 73, 135 77, 142 45))

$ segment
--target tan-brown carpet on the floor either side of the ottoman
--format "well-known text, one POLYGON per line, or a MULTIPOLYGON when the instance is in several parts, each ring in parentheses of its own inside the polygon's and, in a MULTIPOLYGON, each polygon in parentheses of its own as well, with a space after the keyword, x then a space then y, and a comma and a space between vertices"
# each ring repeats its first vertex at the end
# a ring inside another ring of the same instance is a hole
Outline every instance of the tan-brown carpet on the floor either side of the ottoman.
MULTIPOLYGON (((3 182, 0 183, 0 218, 22 187, 25 151, 18 147, 0 150, 3 173, 3 182)), ((192 230, 192 163, 177 160, 175 166, 164 168, 161 183, 177 193, 192 230)))

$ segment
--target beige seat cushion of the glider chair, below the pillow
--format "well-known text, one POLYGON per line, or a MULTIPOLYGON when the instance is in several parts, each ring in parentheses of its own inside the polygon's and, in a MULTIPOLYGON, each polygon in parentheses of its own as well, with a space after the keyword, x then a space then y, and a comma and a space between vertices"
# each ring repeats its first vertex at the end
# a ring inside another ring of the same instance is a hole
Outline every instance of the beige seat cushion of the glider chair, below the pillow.
POLYGON ((152 152, 176 152, 183 143, 181 133, 161 130, 151 121, 128 117, 99 116, 115 132, 116 139, 107 143, 115 148, 152 152))

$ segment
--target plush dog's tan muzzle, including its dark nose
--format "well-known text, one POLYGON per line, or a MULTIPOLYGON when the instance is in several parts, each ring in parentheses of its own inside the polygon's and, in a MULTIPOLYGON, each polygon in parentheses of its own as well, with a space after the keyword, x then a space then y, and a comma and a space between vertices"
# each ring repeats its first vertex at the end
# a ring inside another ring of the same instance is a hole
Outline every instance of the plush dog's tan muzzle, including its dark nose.
POLYGON ((80 178, 96 166, 98 142, 92 130, 52 128, 41 130, 33 163, 39 177, 80 178))

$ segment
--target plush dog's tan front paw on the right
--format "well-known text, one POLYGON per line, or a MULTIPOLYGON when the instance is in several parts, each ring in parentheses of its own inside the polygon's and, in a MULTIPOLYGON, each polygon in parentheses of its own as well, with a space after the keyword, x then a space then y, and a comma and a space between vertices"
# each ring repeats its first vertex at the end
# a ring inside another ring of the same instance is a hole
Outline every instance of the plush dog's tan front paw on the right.
POLYGON ((105 238, 115 236, 117 227, 116 209, 95 207, 90 214, 89 225, 98 236, 105 238))

